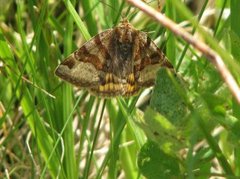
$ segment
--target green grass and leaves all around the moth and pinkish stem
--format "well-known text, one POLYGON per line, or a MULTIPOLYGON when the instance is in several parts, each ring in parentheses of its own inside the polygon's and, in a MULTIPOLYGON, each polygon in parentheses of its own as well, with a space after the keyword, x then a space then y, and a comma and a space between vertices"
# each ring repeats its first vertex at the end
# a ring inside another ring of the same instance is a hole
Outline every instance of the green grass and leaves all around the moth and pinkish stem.
MULTIPOLYGON (((224 55, 239 83, 239 0, 146 3, 224 55)), ((218 71, 125 1, 1 0, 0 70, 0 178, 240 178, 240 105, 218 71), (126 17, 177 76, 163 69, 153 92, 101 99, 54 75, 126 17)))

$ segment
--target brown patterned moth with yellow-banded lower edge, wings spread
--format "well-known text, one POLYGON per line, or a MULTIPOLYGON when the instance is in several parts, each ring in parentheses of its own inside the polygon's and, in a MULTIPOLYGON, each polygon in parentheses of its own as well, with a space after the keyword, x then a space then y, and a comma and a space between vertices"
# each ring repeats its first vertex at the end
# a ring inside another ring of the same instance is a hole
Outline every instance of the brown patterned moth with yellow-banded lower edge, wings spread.
POLYGON ((129 97, 154 85, 159 68, 173 68, 163 52, 127 20, 70 54, 55 74, 103 97, 129 97))

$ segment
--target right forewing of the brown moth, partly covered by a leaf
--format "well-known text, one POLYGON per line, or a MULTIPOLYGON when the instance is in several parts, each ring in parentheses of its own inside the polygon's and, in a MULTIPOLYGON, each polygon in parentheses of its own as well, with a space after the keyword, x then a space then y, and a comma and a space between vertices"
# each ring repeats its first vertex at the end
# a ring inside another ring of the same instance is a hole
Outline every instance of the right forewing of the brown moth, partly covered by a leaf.
POLYGON ((139 52, 140 61, 137 65, 139 78, 137 82, 142 87, 154 85, 156 73, 161 67, 173 68, 164 53, 144 32, 140 32, 139 52))

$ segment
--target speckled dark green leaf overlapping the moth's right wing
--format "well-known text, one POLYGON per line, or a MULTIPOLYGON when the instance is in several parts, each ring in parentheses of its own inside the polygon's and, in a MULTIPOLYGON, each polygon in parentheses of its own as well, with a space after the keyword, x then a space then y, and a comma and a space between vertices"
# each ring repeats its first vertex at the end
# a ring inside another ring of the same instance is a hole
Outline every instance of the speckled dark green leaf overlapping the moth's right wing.
POLYGON ((150 106, 173 124, 183 125, 181 123, 188 111, 184 95, 185 87, 180 77, 163 68, 157 73, 150 106))

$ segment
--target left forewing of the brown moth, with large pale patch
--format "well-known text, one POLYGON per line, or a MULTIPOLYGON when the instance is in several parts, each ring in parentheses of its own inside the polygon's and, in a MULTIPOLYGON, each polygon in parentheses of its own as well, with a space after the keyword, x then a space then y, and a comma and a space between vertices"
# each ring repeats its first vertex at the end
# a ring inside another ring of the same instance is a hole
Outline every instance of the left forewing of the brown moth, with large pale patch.
POLYGON ((87 41, 70 54, 55 70, 60 78, 83 88, 98 86, 106 58, 110 58, 107 47, 112 29, 106 30, 87 41))

